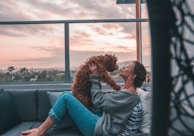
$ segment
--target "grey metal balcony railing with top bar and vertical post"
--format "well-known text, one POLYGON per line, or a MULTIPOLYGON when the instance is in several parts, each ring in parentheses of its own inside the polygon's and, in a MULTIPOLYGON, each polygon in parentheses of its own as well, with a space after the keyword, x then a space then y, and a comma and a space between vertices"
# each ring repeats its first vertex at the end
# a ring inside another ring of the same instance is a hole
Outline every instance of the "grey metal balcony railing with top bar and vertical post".
MULTIPOLYGON (((29 25, 29 24, 64 24, 64 48, 65 48, 65 82, 71 82, 70 57, 69 57, 69 25, 75 23, 122 23, 122 22, 148 22, 148 19, 94 19, 94 20, 39 20, 39 21, 0 21, 0 25, 29 25)), ((136 37, 140 38, 140 37, 136 37)), ((140 40, 138 40, 140 41, 140 40)), ((139 44, 139 43, 138 43, 139 44)), ((142 56, 141 44, 137 47, 137 58, 142 56)))

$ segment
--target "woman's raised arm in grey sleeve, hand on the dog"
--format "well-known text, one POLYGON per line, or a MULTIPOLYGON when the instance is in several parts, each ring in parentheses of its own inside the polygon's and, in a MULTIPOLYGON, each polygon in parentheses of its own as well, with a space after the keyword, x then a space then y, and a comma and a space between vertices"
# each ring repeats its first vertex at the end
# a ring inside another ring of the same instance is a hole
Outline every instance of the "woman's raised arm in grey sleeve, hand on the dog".
POLYGON ((105 112, 113 113, 119 110, 130 110, 138 101, 138 95, 127 91, 112 91, 105 93, 102 91, 97 67, 93 64, 90 67, 92 102, 96 108, 105 112), (127 107, 127 108, 126 108, 127 107))

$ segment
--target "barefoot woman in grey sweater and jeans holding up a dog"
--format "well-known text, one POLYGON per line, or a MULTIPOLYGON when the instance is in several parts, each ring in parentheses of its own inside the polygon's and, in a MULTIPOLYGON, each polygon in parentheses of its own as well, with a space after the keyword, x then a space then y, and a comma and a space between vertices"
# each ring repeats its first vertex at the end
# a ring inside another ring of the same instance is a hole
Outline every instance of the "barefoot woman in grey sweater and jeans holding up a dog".
POLYGON ((142 108, 136 88, 141 87, 146 78, 145 67, 137 61, 131 61, 120 72, 125 83, 123 89, 109 93, 101 90, 97 67, 92 64, 90 70, 92 102, 99 112, 92 113, 73 95, 63 93, 51 108, 47 119, 38 128, 23 131, 21 136, 44 136, 53 124, 60 122, 67 111, 85 136, 125 136, 137 133, 141 126, 142 108))

